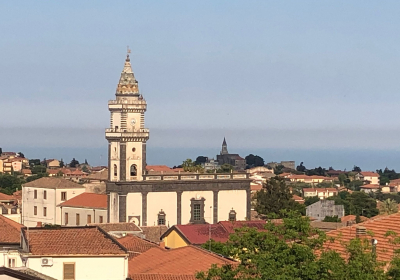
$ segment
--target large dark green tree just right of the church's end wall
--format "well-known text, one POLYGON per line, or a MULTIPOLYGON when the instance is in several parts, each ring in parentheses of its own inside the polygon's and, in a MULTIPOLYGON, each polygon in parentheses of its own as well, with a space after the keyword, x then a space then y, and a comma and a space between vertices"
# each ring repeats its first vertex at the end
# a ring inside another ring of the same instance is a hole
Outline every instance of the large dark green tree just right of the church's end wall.
POLYGON ((305 214, 305 206, 293 199, 285 179, 276 176, 268 180, 255 195, 255 210, 261 215, 280 215, 281 210, 295 210, 305 214))

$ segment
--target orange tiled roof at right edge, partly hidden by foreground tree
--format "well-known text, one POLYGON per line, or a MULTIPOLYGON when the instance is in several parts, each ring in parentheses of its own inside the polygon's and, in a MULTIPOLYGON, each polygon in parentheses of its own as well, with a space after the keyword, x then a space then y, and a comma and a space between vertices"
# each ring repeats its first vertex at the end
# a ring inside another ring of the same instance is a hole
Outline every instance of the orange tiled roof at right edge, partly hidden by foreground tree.
POLYGON ((385 237, 385 234, 388 231, 393 231, 397 233, 397 235, 400 235, 400 213, 389 216, 376 216, 374 219, 360 224, 330 231, 327 233, 327 236, 334 237, 336 240, 334 242, 326 242, 325 248, 335 250, 343 257, 347 257, 347 253, 342 245, 342 242, 348 243, 351 239, 355 238, 356 228, 358 226, 363 226, 366 228, 367 235, 365 235, 365 238, 370 240, 372 237, 368 235, 368 232, 372 232, 374 235, 373 238, 378 240, 378 244, 376 246, 378 260, 390 261, 393 257, 393 251, 398 249, 399 246, 390 243, 390 239, 385 237))

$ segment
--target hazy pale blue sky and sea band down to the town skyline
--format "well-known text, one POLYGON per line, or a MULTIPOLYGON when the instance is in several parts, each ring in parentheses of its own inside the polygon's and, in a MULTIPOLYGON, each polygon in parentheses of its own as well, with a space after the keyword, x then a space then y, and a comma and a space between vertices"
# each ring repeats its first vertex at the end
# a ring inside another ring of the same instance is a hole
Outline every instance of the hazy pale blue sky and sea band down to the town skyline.
POLYGON ((0 147, 106 164, 126 48, 149 164, 399 168, 399 1, 2 1, 0 147))

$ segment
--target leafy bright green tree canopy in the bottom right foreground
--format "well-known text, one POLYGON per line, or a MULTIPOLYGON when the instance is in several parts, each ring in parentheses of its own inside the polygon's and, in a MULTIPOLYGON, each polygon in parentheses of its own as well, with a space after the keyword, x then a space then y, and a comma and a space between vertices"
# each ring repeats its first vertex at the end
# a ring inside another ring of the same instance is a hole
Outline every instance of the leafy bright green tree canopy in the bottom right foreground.
MULTIPOLYGON (((228 242, 211 242, 212 250, 238 261, 238 265, 212 266, 199 272, 201 280, 389 280, 399 279, 399 259, 385 272, 369 240, 354 238, 344 244, 347 258, 326 249, 327 237, 310 226, 309 218, 283 211, 282 222, 269 220, 265 231, 240 228, 228 242), (312 238, 310 238, 312 237, 312 238), (319 252, 319 253, 318 253, 319 252)), ((339 237, 340 238, 340 237, 339 237)))

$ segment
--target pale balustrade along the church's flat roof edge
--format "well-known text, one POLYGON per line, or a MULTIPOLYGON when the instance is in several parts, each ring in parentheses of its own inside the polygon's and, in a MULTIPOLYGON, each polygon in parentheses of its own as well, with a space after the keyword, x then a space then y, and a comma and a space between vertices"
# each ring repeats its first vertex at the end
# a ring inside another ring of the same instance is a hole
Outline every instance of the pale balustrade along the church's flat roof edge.
POLYGON ((195 180, 240 180, 249 179, 248 173, 214 173, 214 174, 157 174, 143 175, 144 181, 195 181, 195 180))

